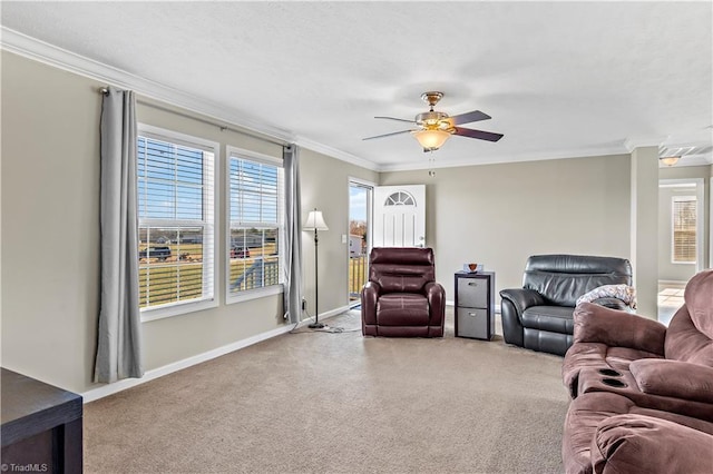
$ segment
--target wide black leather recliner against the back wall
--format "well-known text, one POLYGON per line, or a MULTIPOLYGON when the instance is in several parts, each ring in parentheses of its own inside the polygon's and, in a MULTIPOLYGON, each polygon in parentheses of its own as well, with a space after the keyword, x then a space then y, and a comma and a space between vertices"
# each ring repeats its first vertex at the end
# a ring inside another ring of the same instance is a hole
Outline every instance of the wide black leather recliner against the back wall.
MULTIPOLYGON (((625 258, 587 255, 535 255, 528 258, 522 288, 502 289, 500 313, 507 344, 565 355, 573 343, 577 298, 603 285, 632 285, 625 258)), ((626 309, 621 299, 593 303, 626 309)))

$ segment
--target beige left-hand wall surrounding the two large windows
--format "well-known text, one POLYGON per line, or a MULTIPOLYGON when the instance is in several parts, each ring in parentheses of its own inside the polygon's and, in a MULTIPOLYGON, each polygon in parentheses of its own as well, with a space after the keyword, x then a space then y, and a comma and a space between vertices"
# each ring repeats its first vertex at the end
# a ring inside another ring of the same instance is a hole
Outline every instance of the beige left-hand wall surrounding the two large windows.
MULTIPOLYGON (((91 383, 99 308, 99 113, 104 83, 2 52, 2 365, 75 392, 91 383)), ((140 122, 281 157, 281 147, 139 105, 140 122)), ((303 150, 304 215, 319 206, 321 312, 346 304, 348 178, 377 174, 303 150)), ((219 186, 223 186, 221 184, 219 186)), ((225 189, 221 190, 223 197, 225 189)), ((222 200, 222 199, 221 199, 222 200)), ((219 209, 221 216, 225 208, 219 209)), ((225 223, 219 219, 218 236, 225 223)), ((217 238, 218 249, 225 241, 217 238)), ((303 240, 313 292, 313 240, 303 240)), ((224 260, 218 259, 218 278, 224 260)), ((282 296, 143 324, 150 371, 281 327, 282 296)), ((311 305, 313 308, 313 306, 311 305)))

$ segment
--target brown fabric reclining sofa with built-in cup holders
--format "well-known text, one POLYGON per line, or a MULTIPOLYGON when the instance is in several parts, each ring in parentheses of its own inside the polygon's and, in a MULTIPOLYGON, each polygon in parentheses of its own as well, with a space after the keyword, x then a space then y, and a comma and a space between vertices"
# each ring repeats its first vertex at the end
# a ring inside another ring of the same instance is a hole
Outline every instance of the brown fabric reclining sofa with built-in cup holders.
POLYGON ((684 302, 668 327, 577 306, 563 364, 567 473, 713 472, 713 270, 688 282, 684 302))

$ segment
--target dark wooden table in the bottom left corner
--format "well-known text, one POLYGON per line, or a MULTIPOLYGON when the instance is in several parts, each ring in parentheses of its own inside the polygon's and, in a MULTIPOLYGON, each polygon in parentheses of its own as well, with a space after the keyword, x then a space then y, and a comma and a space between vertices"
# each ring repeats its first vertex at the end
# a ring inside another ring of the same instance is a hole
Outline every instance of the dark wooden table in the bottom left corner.
POLYGON ((2 368, 2 472, 81 473, 81 396, 2 368))

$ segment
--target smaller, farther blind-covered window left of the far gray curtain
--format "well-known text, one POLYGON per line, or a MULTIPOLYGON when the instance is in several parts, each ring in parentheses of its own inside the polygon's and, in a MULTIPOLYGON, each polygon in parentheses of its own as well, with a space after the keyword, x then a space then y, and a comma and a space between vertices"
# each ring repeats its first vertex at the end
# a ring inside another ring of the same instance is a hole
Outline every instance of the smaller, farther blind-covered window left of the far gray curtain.
POLYGON ((228 147, 227 300, 282 290, 282 160, 228 147))

